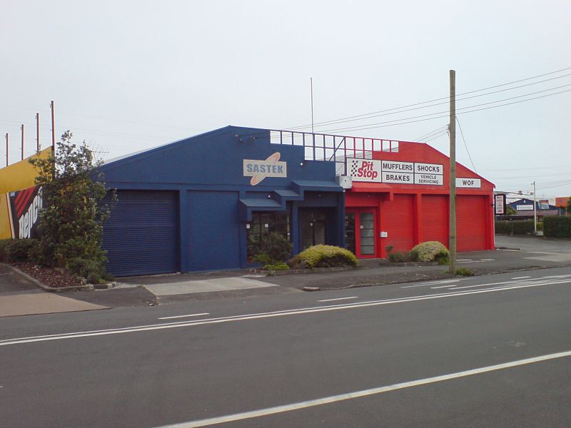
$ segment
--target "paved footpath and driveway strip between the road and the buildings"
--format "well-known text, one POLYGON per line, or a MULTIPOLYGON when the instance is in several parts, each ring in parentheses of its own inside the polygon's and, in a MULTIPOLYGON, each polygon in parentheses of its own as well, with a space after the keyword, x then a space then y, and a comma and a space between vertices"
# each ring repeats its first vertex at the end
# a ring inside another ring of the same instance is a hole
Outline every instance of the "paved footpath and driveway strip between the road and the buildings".
MULTIPOLYGON (((459 253, 458 267, 475 275, 569 266, 571 240, 496 236, 495 251, 459 253)), ((361 260, 358 269, 266 276, 253 270, 202 272, 119 278, 109 290, 48 293, 0 265, 0 317, 50 312, 98 310, 109 307, 164 305, 184 300, 221 297, 254 297, 303 292, 304 287, 331 290, 385 285, 396 282, 450 277, 447 266, 396 264, 385 260, 361 260)))

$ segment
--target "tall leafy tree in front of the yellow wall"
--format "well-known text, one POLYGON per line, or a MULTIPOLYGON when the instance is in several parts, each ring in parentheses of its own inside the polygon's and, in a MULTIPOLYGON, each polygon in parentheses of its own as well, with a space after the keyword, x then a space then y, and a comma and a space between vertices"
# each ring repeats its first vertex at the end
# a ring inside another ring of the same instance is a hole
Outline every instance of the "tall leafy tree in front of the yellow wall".
MULTIPOLYGON (((78 274, 77 266, 89 265, 88 279, 94 282, 105 273, 107 258, 101 242, 103 221, 110 210, 101 203, 106 188, 96 173, 102 161, 94 158, 85 142, 76 146, 71 137, 70 131, 61 136, 55 156, 30 160, 37 171, 36 185, 41 186, 43 199, 39 261, 68 267, 78 274)), ((86 275, 85 270, 81 274, 86 275)))

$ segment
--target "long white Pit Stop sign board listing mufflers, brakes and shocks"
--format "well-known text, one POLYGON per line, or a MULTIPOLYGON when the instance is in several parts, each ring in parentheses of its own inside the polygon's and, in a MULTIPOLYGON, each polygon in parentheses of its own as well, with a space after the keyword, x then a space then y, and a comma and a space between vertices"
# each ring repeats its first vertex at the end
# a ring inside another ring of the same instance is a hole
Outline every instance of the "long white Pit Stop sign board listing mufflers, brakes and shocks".
POLYGON ((443 165, 437 163, 347 159, 347 175, 353 181, 444 185, 443 173, 443 165))

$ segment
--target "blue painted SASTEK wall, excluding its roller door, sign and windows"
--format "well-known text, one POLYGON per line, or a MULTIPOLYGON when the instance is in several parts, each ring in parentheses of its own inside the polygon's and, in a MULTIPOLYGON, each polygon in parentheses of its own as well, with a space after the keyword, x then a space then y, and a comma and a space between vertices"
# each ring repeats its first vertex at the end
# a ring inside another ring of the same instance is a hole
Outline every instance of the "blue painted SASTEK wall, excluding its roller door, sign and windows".
POLYGON ((183 272, 246 267, 246 222, 253 210, 289 208, 297 253, 298 208, 331 207, 328 241, 343 245, 344 197, 335 163, 305 161, 303 147, 271 144, 268 130, 228 126, 113 161, 101 172, 108 188, 178 192, 183 272), (287 163, 287 178, 251 185, 243 159, 263 161, 276 152, 287 163))

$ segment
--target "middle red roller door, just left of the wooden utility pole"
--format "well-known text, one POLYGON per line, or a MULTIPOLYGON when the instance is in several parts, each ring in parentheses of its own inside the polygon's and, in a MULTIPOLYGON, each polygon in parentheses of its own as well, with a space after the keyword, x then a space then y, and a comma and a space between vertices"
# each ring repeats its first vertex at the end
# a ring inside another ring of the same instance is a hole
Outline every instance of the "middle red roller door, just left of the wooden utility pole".
POLYGON ((435 240, 448 247, 448 195, 423 195, 423 242, 435 240))

